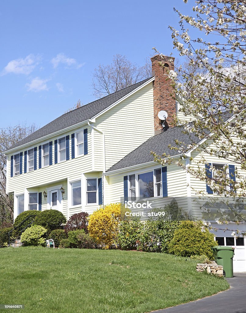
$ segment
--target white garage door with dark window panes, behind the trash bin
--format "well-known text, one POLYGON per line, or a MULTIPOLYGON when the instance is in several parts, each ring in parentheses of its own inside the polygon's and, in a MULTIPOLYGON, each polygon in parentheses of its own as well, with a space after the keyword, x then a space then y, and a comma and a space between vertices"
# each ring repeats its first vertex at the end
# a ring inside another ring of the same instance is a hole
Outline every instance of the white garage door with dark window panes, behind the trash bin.
POLYGON ((234 249, 233 271, 246 272, 246 239, 234 237, 214 237, 219 246, 230 246, 234 249))

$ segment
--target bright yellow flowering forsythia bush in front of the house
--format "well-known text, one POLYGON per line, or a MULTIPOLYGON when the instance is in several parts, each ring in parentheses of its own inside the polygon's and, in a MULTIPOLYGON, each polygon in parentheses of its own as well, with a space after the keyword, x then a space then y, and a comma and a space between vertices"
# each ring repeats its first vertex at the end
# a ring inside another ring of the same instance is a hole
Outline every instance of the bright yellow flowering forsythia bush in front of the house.
POLYGON ((116 243, 121 218, 121 204, 108 204, 89 216, 89 235, 100 247, 108 249, 116 243))

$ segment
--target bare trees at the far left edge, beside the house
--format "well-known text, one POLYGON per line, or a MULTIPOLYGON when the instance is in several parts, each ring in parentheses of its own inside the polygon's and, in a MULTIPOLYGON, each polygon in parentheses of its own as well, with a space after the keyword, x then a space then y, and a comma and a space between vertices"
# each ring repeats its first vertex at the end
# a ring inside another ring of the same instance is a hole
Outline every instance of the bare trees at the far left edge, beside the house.
POLYGON ((8 126, 0 129, 0 221, 12 221, 13 196, 6 194, 6 162, 3 151, 37 130, 35 124, 26 122, 17 126, 8 126))

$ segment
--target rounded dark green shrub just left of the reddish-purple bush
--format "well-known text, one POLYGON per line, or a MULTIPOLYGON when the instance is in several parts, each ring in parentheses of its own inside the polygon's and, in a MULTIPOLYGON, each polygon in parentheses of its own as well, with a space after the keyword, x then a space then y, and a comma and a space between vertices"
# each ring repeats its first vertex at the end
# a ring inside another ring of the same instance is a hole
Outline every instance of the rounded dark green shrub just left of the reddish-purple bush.
POLYGON ((66 223, 66 217, 58 210, 45 210, 37 215, 34 223, 45 227, 50 233, 52 230, 62 228, 62 224, 66 223))

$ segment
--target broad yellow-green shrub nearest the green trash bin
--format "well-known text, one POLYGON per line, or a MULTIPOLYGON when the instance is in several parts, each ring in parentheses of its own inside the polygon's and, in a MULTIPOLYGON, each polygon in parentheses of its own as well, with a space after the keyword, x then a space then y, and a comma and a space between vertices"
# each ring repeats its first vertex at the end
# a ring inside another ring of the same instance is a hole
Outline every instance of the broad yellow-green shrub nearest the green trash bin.
POLYGON ((168 245, 169 252, 175 255, 191 257, 206 255, 214 259, 212 247, 216 245, 214 235, 201 222, 183 221, 175 230, 168 245))

